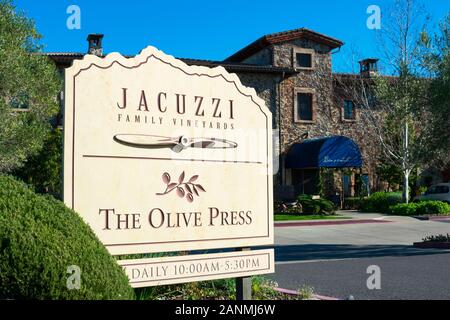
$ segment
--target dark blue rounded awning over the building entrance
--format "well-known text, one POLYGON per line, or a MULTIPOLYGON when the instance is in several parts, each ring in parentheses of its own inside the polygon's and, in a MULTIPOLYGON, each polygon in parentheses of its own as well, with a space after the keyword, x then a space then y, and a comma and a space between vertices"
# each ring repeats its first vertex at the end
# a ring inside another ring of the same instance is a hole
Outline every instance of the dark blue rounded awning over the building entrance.
POLYGON ((360 168, 361 152, 350 138, 332 136, 295 143, 286 155, 285 167, 305 168, 360 168))

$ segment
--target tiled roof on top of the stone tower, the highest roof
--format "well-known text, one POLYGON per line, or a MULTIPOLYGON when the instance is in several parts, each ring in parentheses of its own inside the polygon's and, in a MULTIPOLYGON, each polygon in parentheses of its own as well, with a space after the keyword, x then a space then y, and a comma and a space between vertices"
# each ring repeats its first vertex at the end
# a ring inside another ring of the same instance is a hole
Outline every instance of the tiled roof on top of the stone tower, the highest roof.
POLYGON ((272 45, 275 43, 280 43, 280 42, 285 42, 285 41, 290 41, 290 40, 295 40, 295 39, 310 39, 317 43, 325 44, 325 45, 329 46, 331 49, 341 47, 344 44, 342 41, 335 39, 335 38, 331 38, 324 34, 321 34, 321 33, 306 29, 306 28, 299 28, 299 29, 288 30, 288 31, 283 31, 283 32, 271 33, 271 34, 262 36, 261 38, 252 42, 251 44, 249 44, 248 46, 239 50, 235 54, 231 55, 224 61, 239 62, 239 61, 242 61, 245 58, 255 54, 256 52, 260 51, 261 49, 263 49, 269 45, 272 45))

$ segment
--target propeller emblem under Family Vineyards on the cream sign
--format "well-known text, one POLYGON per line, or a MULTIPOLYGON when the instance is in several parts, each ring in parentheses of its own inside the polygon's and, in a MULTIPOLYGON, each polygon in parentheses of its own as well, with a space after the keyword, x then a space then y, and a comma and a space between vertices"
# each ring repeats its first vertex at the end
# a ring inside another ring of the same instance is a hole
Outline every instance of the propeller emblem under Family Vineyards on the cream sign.
POLYGON ((219 138, 165 137, 151 134, 116 134, 114 141, 136 148, 172 148, 175 152, 187 148, 227 149, 237 148, 236 142, 219 138))

